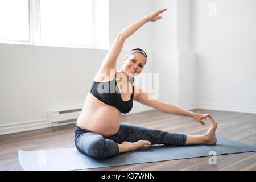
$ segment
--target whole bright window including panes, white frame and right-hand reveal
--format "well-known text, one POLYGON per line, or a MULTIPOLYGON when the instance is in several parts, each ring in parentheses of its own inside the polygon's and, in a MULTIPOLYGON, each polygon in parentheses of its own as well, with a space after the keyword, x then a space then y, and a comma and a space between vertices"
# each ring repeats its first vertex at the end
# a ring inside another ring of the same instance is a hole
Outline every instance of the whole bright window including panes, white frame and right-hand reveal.
POLYGON ((0 0, 0 43, 108 49, 108 22, 108 0, 0 0))

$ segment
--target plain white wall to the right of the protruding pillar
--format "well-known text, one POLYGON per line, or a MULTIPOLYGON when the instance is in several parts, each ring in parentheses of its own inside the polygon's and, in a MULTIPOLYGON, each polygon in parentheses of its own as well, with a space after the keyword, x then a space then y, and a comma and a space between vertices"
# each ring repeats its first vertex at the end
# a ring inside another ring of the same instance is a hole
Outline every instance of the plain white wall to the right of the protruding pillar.
POLYGON ((197 107, 256 113, 256 1, 191 2, 197 107), (209 3, 216 3, 216 17, 208 15, 209 3))

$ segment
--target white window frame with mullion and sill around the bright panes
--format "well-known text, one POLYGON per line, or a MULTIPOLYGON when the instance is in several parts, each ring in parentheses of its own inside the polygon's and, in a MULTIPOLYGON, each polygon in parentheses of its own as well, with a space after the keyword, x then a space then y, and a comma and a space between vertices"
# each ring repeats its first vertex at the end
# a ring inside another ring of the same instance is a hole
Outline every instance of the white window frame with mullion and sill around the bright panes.
POLYGON ((0 40, 0 43, 3 44, 24 44, 31 46, 48 46, 48 47, 70 47, 70 48, 96 48, 96 35, 95 32, 95 2, 92 0, 92 45, 83 45, 83 44, 53 44, 53 43, 41 43, 40 41, 40 0, 28 0, 28 13, 29 13, 29 41, 24 40, 0 40))

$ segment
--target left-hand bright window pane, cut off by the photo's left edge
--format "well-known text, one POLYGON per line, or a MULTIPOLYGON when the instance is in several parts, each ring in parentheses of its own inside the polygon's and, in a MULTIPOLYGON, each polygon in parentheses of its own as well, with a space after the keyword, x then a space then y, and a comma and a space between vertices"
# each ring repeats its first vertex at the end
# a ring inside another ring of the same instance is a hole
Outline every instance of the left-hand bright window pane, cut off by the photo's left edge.
POLYGON ((0 40, 30 40, 28 0, 0 0, 0 40))

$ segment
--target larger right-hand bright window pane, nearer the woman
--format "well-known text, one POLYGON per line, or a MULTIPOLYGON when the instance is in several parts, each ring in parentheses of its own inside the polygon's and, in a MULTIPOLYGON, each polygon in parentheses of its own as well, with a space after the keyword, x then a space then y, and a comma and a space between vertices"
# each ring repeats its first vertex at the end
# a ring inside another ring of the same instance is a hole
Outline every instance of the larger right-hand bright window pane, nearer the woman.
POLYGON ((92 45, 92 0, 41 0, 40 27, 42 43, 92 45))

